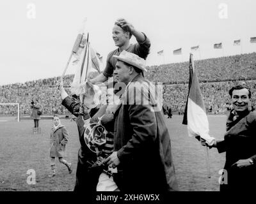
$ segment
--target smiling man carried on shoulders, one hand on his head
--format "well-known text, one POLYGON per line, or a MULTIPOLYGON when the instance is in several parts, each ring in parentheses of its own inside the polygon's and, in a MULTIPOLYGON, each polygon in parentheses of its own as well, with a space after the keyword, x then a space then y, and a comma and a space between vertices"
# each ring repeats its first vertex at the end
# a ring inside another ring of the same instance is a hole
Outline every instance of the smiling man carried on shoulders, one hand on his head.
POLYGON ((92 84, 105 82, 109 77, 113 76, 113 71, 116 66, 116 59, 113 55, 120 55, 123 50, 126 50, 127 52, 132 52, 139 57, 146 59, 149 54, 150 41, 147 36, 134 29, 133 25, 127 22, 124 18, 116 20, 112 30, 112 38, 115 46, 118 48, 108 54, 106 68, 103 73, 100 73, 100 75, 90 80, 92 84), (130 44, 132 35, 137 40, 137 43, 135 44, 130 44))

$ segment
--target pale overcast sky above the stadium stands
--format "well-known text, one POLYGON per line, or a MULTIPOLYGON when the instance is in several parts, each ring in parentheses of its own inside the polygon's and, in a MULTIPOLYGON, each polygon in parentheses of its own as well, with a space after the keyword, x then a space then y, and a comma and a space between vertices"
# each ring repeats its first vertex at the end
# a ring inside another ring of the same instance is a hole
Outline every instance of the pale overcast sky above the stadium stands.
MULTIPOLYGON (((250 43, 255 0, 1 0, 0 85, 60 76, 85 17, 91 45, 104 61, 116 48, 112 28, 120 17, 150 39, 148 66, 188 61, 197 45, 195 60, 256 52, 250 43), (239 39, 241 46, 234 46, 239 39), (182 55, 173 55, 177 48, 182 55)), ((74 71, 69 67, 67 74, 74 71)))

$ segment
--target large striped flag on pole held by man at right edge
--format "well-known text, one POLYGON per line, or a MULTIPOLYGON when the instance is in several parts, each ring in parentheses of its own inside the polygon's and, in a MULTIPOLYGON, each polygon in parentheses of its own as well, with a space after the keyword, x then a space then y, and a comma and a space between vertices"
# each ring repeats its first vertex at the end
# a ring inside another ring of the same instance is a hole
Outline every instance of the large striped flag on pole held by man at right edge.
POLYGON ((182 124, 188 125, 189 136, 200 136, 209 145, 214 143, 215 138, 209 135, 209 122, 196 75, 193 54, 190 54, 189 59, 189 91, 182 124))

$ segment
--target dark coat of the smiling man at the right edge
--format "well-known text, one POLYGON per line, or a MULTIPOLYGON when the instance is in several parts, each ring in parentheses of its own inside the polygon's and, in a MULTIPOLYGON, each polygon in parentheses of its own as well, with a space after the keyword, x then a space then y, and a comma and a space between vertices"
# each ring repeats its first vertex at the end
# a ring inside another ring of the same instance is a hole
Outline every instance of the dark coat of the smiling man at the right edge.
POLYGON ((226 152, 226 162, 221 180, 221 191, 251 191, 256 184, 256 112, 244 112, 232 120, 233 110, 228 115, 224 140, 217 143, 218 152, 226 152), (237 168, 239 159, 253 160, 253 165, 237 168), (227 180, 225 180, 227 179, 227 180))

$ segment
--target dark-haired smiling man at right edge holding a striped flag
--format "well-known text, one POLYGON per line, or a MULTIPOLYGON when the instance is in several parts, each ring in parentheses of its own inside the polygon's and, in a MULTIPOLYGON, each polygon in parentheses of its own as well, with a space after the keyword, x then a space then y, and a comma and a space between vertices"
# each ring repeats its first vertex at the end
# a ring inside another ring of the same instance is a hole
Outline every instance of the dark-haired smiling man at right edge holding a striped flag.
MULTIPOLYGON (((224 140, 212 145, 226 152, 221 191, 252 191, 256 184, 256 113, 249 110, 251 91, 237 85, 229 91, 234 109, 227 119, 224 140)), ((202 143, 205 145, 205 143, 202 143)))

